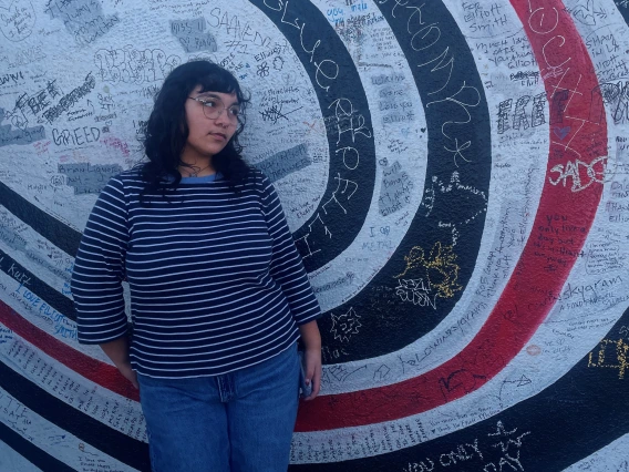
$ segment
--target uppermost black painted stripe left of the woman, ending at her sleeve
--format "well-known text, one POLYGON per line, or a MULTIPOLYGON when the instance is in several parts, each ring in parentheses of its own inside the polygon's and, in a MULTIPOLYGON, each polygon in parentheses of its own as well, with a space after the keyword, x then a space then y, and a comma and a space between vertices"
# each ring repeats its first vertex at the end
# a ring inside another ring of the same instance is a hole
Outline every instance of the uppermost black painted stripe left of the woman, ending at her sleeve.
POLYGON ((33 205, 2 182, 0 204, 68 255, 74 257, 79 250, 81 233, 33 205))

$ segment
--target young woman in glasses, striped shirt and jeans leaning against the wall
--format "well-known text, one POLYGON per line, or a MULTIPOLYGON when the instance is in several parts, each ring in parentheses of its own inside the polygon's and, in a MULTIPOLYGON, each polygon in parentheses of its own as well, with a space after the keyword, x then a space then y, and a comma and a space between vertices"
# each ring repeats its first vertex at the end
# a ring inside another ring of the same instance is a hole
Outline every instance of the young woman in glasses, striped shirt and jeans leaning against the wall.
POLYGON ((109 182, 76 255, 79 340, 140 388, 155 472, 286 471, 300 336, 319 392, 320 308, 274 186, 239 155, 247 102, 216 64, 173 70, 148 161, 109 182))

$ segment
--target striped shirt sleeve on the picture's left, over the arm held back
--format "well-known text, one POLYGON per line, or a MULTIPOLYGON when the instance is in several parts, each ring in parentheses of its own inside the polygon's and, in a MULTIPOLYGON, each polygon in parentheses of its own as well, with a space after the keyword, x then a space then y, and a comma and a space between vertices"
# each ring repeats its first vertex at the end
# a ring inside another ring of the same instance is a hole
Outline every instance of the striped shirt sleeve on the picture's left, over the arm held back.
POLYGON ((90 214, 74 259, 71 290, 81 343, 107 342, 127 332, 122 288, 127 242, 124 187, 113 177, 90 214))

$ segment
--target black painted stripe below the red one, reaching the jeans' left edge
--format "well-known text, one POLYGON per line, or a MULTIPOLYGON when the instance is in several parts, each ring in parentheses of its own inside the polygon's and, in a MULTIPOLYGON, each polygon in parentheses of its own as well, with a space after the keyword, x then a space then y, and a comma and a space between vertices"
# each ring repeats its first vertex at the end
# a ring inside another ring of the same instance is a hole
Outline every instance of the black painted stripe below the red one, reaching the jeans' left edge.
POLYGON ((51 396, 0 363, 0 387, 28 409, 125 464, 148 471, 148 444, 130 438, 51 396))

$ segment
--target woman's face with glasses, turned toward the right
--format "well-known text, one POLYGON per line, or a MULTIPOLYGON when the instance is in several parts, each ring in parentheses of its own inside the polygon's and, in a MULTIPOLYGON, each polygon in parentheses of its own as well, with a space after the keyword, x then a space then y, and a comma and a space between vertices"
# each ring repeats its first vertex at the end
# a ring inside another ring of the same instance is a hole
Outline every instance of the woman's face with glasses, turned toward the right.
POLYGON ((184 156, 195 161, 223 151, 238 127, 236 93, 200 92, 200 89, 197 85, 190 92, 185 105, 188 141, 184 156))

